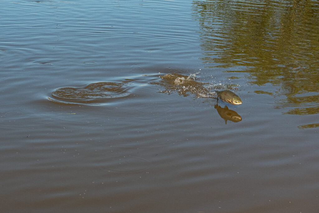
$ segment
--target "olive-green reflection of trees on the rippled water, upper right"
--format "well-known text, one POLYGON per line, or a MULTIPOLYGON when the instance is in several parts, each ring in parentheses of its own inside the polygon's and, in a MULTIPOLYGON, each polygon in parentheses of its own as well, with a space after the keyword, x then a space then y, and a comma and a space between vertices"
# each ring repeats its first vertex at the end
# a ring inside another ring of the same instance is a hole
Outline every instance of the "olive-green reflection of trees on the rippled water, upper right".
POLYGON ((207 67, 248 72, 249 83, 272 84, 274 91, 255 92, 295 107, 284 114, 319 113, 317 1, 193 1, 192 9, 207 67))

